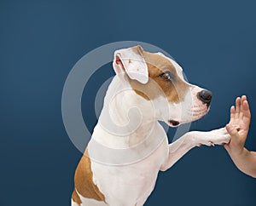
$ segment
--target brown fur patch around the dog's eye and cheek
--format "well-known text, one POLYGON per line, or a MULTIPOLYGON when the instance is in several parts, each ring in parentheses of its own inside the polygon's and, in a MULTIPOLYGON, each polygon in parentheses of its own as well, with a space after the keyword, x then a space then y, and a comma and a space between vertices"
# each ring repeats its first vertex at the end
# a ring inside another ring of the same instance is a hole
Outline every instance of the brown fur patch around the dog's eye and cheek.
POLYGON ((143 56, 148 66, 148 83, 139 83, 129 78, 131 88, 146 100, 154 100, 162 95, 172 103, 183 101, 189 85, 178 77, 176 69, 170 60, 166 60, 165 57, 159 54, 152 54, 145 51, 143 51, 143 56), (163 72, 167 71, 172 73, 172 81, 166 81, 163 77, 160 77, 163 72))

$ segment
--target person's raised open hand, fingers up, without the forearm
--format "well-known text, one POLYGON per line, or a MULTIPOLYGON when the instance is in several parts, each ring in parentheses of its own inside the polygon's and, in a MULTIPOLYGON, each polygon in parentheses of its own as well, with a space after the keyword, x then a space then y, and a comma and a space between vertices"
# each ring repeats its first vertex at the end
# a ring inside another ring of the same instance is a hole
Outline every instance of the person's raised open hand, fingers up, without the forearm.
POLYGON ((251 112, 245 95, 236 98, 236 107, 230 108, 230 123, 226 129, 231 136, 229 144, 224 145, 228 152, 241 154, 251 121, 251 112))

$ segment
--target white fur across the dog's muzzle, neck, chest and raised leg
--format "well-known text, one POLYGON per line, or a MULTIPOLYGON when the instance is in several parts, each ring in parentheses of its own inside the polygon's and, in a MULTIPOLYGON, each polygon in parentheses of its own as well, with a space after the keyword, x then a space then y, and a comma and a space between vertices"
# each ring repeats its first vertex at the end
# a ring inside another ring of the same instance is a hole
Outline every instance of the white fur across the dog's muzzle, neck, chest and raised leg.
MULTIPOLYGON (((181 67, 177 63, 173 65, 180 74, 181 67)), ((113 78, 88 146, 93 181, 108 205, 143 205, 154 189, 160 170, 172 167, 194 146, 229 142, 226 130, 216 129, 189 132, 168 144, 166 132, 157 120, 168 123, 171 118, 188 123, 207 113, 207 106, 196 97, 201 88, 188 85, 190 89, 183 102, 167 102, 166 106, 166 98, 148 101, 137 95, 125 76, 113 78)), ((83 206, 106 205, 84 197, 81 200, 83 206)))

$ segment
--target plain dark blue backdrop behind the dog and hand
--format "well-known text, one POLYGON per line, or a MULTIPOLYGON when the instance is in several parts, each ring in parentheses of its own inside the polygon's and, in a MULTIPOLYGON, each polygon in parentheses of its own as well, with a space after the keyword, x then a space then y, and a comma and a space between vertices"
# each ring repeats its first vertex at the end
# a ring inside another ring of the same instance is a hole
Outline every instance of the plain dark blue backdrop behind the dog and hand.
MULTIPOLYGON (((152 43, 181 63, 191 83, 213 92, 212 109, 191 129, 229 121, 230 105, 247 94, 256 148, 256 3, 253 1, 1 1, 0 205, 70 205, 81 153, 61 118, 61 92, 73 65, 116 41, 152 43)), ((93 97, 113 75, 103 66, 83 97, 93 129, 93 97), (101 78, 102 77, 102 78, 101 78)), ((195 148, 160 173, 149 205, 256 205, 256 180, 243 175, 222 146, 195 148)))

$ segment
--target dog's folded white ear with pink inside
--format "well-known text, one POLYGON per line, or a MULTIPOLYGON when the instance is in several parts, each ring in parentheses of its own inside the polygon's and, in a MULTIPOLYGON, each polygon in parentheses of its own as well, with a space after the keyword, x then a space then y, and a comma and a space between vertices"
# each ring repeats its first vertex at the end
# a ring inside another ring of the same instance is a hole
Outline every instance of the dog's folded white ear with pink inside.
POLYGON ((126 72, 140 83, 148 83, 148 66, 141 46, 119 49, 114 52, 113 69, 116 74, 126 72))

